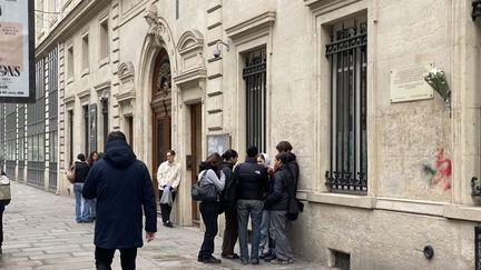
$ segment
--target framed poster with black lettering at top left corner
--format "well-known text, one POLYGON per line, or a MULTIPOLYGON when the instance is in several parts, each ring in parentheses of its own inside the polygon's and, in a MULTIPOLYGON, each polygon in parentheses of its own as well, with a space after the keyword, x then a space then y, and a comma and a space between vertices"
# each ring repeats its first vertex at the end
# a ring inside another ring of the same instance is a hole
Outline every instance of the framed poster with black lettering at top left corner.
POLYGON ((0 0, 0 102, 35 101, 33 0, 0 0))

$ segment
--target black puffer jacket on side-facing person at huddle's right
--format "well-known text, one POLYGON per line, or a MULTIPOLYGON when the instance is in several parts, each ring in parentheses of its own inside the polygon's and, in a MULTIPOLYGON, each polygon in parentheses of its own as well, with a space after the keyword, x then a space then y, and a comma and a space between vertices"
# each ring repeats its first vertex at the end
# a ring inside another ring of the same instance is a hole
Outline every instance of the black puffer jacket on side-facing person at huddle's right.
POLYGON ((291 173, 286 164, 274 174, 274 188, 264 201, 264 208, 272 211, 285 211, 288 207, 288 186, 291 173))

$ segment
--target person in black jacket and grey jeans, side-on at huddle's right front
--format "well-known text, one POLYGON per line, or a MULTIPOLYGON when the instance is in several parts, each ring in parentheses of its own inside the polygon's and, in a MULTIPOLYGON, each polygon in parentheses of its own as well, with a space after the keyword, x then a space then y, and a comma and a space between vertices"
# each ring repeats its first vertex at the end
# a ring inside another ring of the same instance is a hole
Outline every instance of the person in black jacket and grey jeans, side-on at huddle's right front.
POLYGON ((273 264, 287 264, 293 262, 293 252, 287 239, 287 207, 288 207, 288 189, 293 188, 288 184, 292 181, 289 169, 287 167, 288 153, 281 152, 275 157, 274 164, 274 187, 272 192, 265 200, 265 207, 271 211, 269 233, 275 243, 275 257, 272 260, 273 264))

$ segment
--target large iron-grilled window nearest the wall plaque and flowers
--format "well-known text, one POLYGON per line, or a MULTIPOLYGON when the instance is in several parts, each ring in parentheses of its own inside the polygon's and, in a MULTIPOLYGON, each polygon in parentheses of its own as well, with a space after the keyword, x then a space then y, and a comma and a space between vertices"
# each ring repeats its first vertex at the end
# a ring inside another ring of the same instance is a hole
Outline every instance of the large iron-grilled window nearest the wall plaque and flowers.
POLYGON ((331 62, 332 191, 367 191, 366 71, 367 24, 352 20, 332 28, 326 46, 331 62))

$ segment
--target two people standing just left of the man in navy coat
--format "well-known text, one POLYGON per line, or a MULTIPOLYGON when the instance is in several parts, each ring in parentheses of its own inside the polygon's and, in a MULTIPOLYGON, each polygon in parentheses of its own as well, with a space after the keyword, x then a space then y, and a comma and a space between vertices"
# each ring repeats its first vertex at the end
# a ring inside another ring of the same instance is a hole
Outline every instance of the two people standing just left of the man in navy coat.
POLYGON ((84 153, 77 154, 75 161, 75 180, 73 180, 73 194, 76 197, 76 221, 77 223, 91 223, 96 219, 96 204, 97 199, 85 199, 82 208, 82 189, 87 174, 94 163, 100 159, 97 151, 90 152, 88 159, 84 153))

